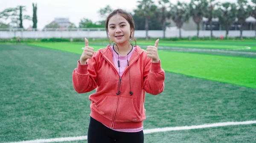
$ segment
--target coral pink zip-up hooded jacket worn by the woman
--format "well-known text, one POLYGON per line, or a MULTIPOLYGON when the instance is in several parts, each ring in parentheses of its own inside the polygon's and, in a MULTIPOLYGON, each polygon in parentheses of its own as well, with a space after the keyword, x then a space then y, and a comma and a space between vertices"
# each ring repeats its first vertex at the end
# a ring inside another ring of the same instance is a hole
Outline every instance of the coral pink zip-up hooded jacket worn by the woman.
MULTIPOLYGON (((165 73, 161 63, 152 63, 145 50, 136 47, 121 80, 113 62, 110 45, 93 53, 87 64, 79 64, 73 71, 73 86, 77 93, 89 96, 90 116, 111 129, 133 129, 145 120, 145 92, 163 92, 165 73), (130 76, 129 70, 130 68, 130 76), (120 85, 120 94, 117 95, 120 85), (131 91, 130 92, 130 85, 131 91)), ((157 99, 156 99, 157 100, 157 99)))

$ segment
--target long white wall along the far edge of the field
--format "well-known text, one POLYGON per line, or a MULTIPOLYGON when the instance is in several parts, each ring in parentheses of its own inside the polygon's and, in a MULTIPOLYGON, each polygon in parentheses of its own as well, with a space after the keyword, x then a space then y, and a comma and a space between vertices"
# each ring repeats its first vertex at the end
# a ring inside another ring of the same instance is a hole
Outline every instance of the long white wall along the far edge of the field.
MULTIPOLYGON (((145 38, 145 30, 135 31, 135 38, 145 38)), ((196 36, 197 31, 181 31, 182 37, 196 36)), ((226 31, 213 31, 213 36, 225 36, 226 31)), ((0 39, 9 39, 13 37, 20 38, 105 38, 105 31, 0 31, 0 39)), ((152 38, 162 38, 163 31, 151 30, 148 31, 148 36, 152 38)), ((210 31, 199 31, 199 36, 210 36, 210 31)), ((240 31, 229 31, 229 37, 240 36, 240 31)), ((243 31, 244 37, 255 37, 256 31, 243 31)), ((166 38, 179 37, 178 30, 166 31, 166 38)))

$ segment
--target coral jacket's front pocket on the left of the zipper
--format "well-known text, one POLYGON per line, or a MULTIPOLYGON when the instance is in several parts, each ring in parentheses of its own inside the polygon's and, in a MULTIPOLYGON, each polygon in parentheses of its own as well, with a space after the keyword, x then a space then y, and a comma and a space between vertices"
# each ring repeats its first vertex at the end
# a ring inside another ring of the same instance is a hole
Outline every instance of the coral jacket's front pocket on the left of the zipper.
POLYGON ((116 102, 117 96, 103 95, 99 101, 92 104, 91 108, 108 120, 112 121, 116 109, 116 102))

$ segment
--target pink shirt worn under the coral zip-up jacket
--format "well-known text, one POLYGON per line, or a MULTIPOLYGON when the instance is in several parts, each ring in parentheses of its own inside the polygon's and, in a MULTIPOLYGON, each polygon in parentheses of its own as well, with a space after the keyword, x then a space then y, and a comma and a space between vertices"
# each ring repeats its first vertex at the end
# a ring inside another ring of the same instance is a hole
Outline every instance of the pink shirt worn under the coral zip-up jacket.
MULTIPOLYGON (((134 52, 136 47, 132 49, 132 51, 128 54, 128 61, 131 59, 131 55, 134 52)), ((113 52, 113 63, 116 66, 117 71, 119 72, 119 67, 118 67, 118 55, 117 53, 113 50, 113 46, 111 46, 111 50, 113 52)), ((125 67, 127 66, 127 56, 119 56, 119 62, 120 62, 120 77, 122 77, 122 74, 124 73, 125 67)), ((143 126, 140 128, 135 128, 135 129, 113 129, 118 132, 140 132, 143 130, 143 126)))

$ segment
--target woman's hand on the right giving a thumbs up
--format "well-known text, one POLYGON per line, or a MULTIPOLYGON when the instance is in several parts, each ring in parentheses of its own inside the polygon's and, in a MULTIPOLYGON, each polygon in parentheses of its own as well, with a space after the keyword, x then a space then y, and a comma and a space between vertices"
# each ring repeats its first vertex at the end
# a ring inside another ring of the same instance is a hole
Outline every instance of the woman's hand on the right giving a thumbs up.
POLYGON ((154 46, 148 46, 147 47, 147 56, 152 59, 152 62, 159 62, 159 56, 157 53, 157 46, 158 46, 159 39, 156 40, 154 46))

